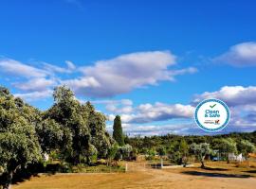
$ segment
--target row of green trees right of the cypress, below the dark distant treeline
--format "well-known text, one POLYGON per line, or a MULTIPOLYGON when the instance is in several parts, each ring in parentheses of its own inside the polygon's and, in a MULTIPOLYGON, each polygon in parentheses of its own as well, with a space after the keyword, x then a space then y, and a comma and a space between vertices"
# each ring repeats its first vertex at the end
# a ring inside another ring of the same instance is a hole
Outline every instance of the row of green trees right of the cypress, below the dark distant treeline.
MULTIPOLYGON (((252 133, 254 134, 254 133, 252 133)), ((202 140, 204 137, 200 137, 199 142, 194 142, 192 139, 194 136, 169 136, 172 140, 169 143, 159 139, 166 136, 153 136, 153 137, 135 137, 126 138, 126 140, 134 147, 138 149, 139 153, 146 155, 146 158, 151 160, 158 154, 160 157, 168 157, 172 163, 186 163, 188 157, 194 156, 198 161, 202 163, 204 167, 204 160, 206 157, 215 157, 218 160, 227 160, 229 163, 229 154, 242 153, 244 158, 247 159, 249 153, 256 152, 255 144, 245 139, 235 140, 231 138, 232 134, 227 135, 229 137, 223 138, 219 136, 210 136, 210 143, 202 140), (192 138, 191 138, 192 137, 192 138), (157 140, 156 140, 157 139, 157 140), (155 142, 156 140, 156 142, 155 142), (192 143, 188 143, 188 142, 192 143), (141 147, 140 147, 141 146, 141 147)))

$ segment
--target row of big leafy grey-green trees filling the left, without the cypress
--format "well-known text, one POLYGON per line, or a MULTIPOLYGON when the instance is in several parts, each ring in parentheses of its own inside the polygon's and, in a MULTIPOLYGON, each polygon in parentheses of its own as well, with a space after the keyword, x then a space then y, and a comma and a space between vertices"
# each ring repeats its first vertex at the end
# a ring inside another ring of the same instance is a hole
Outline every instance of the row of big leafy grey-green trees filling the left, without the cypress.
POLYGON ((9 188, 17 169, 43 161, 44 154, 52 151, 60 161, 72 164, 131 153, 131 146, 124 146, 119 116, 114 125, 117 143, 105 129, 106 116, 90 102, 80 103, 64 86, 54 90, 53 98, 53 106, 41 112, 0 87, 0 185, 4 188, 9 188))

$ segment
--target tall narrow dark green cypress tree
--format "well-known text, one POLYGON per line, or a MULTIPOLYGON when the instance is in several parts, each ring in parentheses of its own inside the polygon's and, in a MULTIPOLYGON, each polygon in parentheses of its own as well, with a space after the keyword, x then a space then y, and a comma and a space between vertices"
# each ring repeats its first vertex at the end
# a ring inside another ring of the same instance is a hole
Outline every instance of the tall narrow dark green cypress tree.
POLYGON ((113 138, 118 142, 119 146, 124 146, 121 119, 119 115, 117 115, 114 119, 113 138))

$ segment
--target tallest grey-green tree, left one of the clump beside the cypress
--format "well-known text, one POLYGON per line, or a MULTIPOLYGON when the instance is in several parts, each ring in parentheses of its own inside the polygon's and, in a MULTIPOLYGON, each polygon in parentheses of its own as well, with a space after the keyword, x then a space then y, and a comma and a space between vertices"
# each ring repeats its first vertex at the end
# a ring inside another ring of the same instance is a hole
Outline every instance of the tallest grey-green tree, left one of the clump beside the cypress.
POLYGON ((80 156, 88 154, 85 151, 90 147, 86 112, 82 112, 80 102, 65 86, 55 88, 53 97, 55 103, 46 112, 45 118, 54 120, 63 130, 62 157, 67 162, 80 163, 80 156))

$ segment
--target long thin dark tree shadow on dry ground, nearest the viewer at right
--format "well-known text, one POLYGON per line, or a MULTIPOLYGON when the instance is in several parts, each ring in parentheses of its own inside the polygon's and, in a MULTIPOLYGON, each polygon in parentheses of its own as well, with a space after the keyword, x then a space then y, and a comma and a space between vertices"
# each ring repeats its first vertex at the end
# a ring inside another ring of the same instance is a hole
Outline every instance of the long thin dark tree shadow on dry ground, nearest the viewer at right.
POLYGON ((240 175, 240 174, 224 174, 224 173, 209 173, 200 171, 183 171, 183 174, 192 176, 205 176, 213 178, 250 178, 250 175, 240 175))

